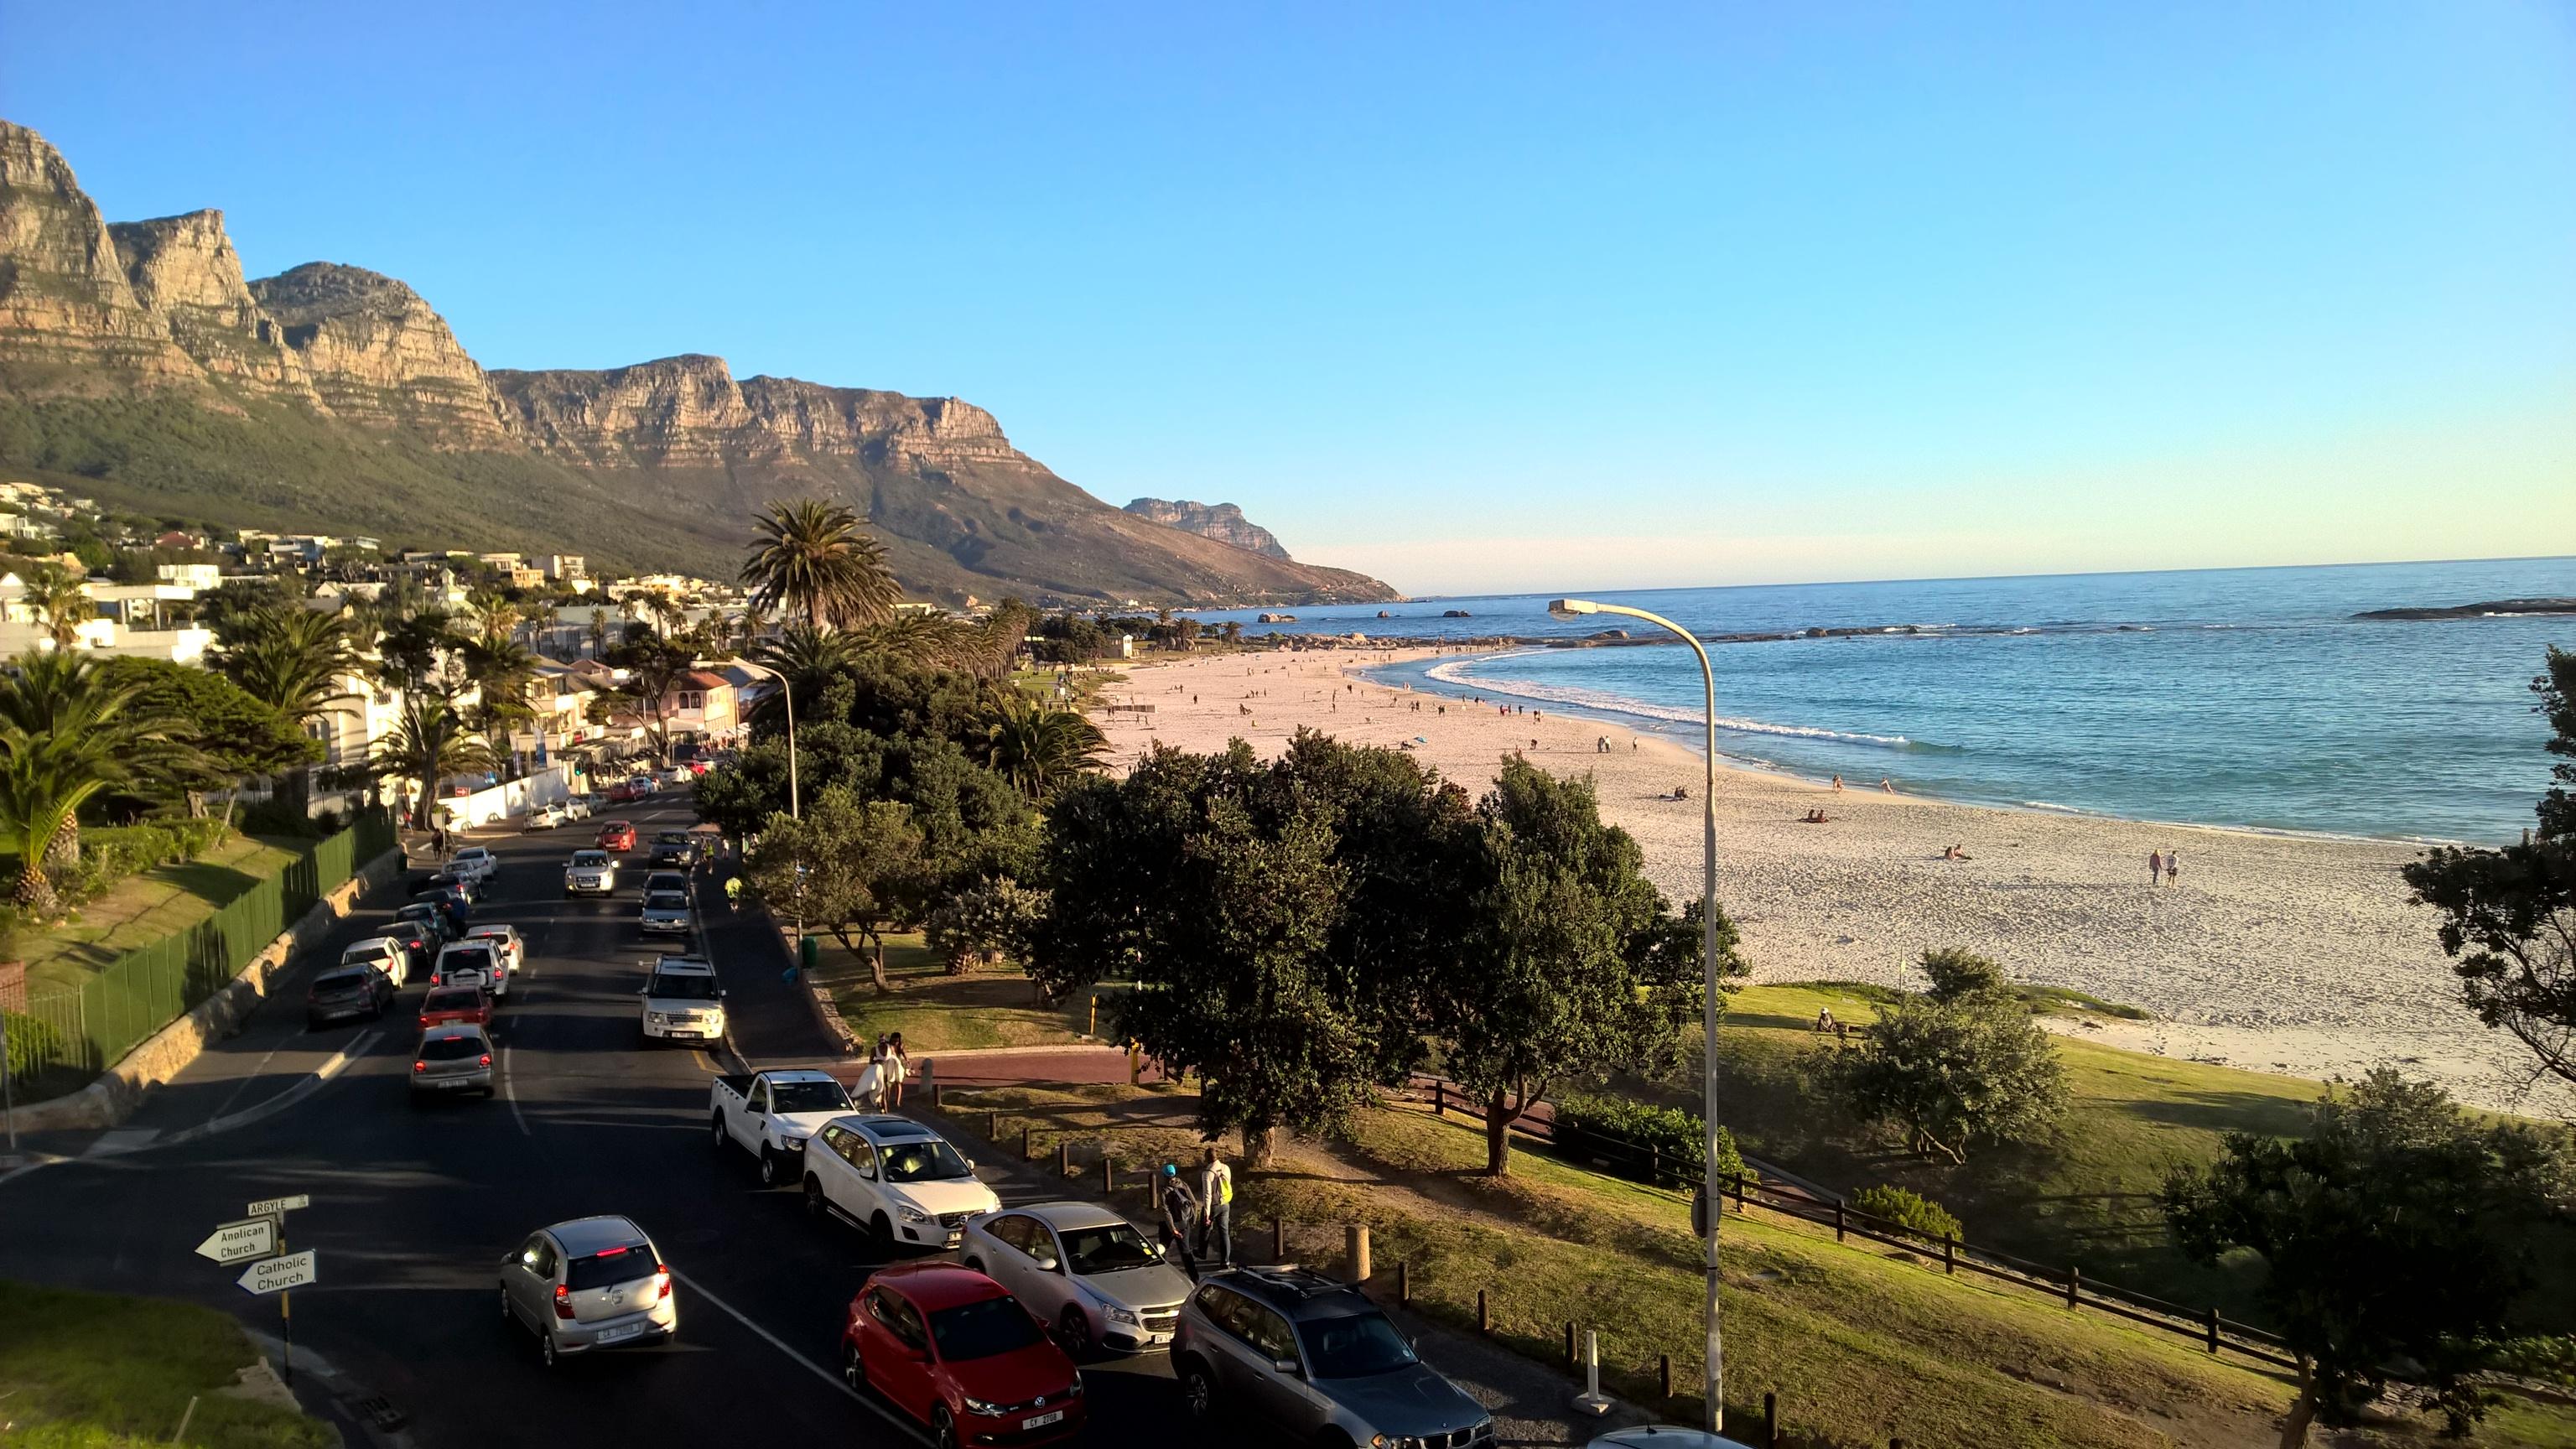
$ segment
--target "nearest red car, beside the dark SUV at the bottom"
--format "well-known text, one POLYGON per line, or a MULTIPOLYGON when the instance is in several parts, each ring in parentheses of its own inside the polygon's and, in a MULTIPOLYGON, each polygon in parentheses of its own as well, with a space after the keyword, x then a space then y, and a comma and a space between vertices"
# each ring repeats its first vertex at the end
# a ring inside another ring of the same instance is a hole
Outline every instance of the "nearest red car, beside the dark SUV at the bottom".
POLYGON ((1082 1434, 1074 1361, 1002 1284, 956 1263, 878 1269, 850 1299, 840 1374, 927 1423, 938 1444, 1082 1434))

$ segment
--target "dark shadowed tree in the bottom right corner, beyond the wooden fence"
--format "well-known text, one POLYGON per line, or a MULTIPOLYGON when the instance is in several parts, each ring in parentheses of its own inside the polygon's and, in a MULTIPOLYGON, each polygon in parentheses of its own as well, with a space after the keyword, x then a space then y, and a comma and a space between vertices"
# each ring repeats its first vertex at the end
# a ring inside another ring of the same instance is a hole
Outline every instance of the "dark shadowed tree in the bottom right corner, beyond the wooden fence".
POLYGON ((2532 1227, 2566 1212, 2566 1189, 2553 1137, 2378 1067, 2329 1093, 2308 1137, 2228 1134, 2218 1163, 2166 1181, 2164 1212, 2200 1261, 2262 1258, 2262 1302, 2300 1364, 2280 1434, 2295 1449, 2401 1372, 2465 1431, 2483 1413, 2473 1374, 2532 1284, 2532 1227))

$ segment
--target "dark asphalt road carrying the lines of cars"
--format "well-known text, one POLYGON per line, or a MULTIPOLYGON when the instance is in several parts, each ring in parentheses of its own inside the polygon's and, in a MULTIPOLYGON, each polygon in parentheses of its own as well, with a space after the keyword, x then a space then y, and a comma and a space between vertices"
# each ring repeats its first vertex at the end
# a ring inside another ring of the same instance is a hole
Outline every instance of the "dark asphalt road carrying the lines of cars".
MULTIPOLYGON (((649 838, 688 810, 654 802, 631 817, 649 838)), ((665 946, 634 926, 636 884, 562 897, 559 864, 587 835, 489 841, 505 864, 474 920, 528 938, 528 969, 495 1024, 502 1096, 410 1104, 420 982, 381 1026, 312 1034, 294 987, 155 1093, 137 1122, 160 1127, 131 1134, 155 1142, 0 1181, 0 1276, 188 1297, 273 1336, 276 1299, 242 1294, 240 1269, 193 1248, 250 1199, 312 1194, 286 1222, 289 1248, 317 1248, 322 1271, 294 1294, 294 1338, 407 1415, 412 1444, 927 1444, 835 1372, 840 1320, 881 1258, 858 1230, 809 1220, 799 1194, 760 1191, 750 1158, 708 1145, 706 1052, 639 1047, 634 990, 665 946), (502 1320, 495 1269, 533 1227, 592 1212, 654 1235, 680 1284, 680 1341, 546 1369, 502 1320)), ((381 913, 343 936, 368 918, 381 913)), ((773 1047, 755 1057, 801 1055, 811 1024, 778 982, 775 936, 726 920, 714 882, 701 918, 742 1016, 737 1039, 773 1047)), ((1015 1165, 984 1176, 1005 1201, 1041 1194, 1015 1165)), ((1162 1359, 1092 1364, 1087 1382, 1095 1444, 1188 1431, 1162 1359)))

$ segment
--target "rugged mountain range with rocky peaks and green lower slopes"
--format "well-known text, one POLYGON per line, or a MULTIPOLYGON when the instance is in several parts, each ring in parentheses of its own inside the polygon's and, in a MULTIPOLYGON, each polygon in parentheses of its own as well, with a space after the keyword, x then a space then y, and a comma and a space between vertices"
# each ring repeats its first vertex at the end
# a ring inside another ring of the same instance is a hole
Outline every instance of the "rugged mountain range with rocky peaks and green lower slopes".
POLYGON ((683 353, 484 369, 392 276, 247 278, 222 211, 106 222, 0 121, 0 467, 108 505, 420 547, 580 552, 726 578, 773 498, 860 511, 914 596, 963 603, 1394 598, 1242 511, 1113 508, 956 397, 683 353))

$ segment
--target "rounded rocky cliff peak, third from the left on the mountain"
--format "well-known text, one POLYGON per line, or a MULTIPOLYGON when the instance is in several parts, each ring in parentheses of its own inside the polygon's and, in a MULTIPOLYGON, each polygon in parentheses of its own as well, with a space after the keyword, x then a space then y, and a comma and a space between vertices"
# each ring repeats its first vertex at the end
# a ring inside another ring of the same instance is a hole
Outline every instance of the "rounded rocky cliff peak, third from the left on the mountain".
POLYGON ((283 327, 332 413, 376 428, 415 428, 459 449, 505 443, 482 366, 410 286, 309 260, 252 281, 250 297, 283 327))

